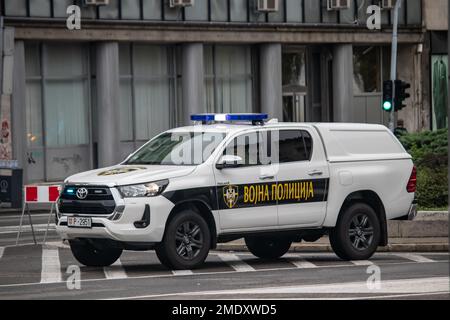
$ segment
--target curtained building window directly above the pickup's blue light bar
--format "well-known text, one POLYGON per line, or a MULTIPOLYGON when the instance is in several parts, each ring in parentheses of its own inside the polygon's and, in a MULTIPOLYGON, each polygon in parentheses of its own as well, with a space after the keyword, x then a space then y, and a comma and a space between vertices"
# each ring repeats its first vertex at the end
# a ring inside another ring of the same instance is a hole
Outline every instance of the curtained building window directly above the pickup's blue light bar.
POLYGON ((205 46, 208 112, 251 112, 253 72, 250 46, 205 46))

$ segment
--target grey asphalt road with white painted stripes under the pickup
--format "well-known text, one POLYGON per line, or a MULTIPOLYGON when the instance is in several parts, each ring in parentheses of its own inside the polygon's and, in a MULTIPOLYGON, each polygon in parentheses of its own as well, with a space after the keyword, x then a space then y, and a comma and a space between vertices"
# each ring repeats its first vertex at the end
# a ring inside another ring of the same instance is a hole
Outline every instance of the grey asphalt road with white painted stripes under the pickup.
POLYGON ((58 243, 0 248, 0 299, 317 298, 449 299, 448 254, 380 253, 346 262, 329 253, 295 253, 264 262, 247 253, 212 252, 199 270, 171 271, 153 252, 124 252, 111 267, 87 268, 58 243), (80 267, 79 290, 70 266, 80 267), (376 271, 380 282, 368 286, 376 271))

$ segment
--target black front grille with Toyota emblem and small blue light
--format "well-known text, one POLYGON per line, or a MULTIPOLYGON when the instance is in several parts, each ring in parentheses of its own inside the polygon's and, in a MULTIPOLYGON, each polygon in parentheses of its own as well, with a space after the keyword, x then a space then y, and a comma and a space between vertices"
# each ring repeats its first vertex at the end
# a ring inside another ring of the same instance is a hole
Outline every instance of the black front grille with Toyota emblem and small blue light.
POLYGON ((59 198, 58 209, 62 214, 110 215, 116 203, 108 187, 66 186, 59 198), (78 189, 85 188, 87 195, 80 199, 78 189))

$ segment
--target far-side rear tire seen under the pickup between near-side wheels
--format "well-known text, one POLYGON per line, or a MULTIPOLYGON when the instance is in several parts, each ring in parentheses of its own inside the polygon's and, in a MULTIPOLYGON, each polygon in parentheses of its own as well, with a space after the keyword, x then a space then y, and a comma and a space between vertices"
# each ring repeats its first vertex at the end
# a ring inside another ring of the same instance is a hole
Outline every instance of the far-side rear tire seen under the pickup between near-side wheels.
POLYGON ((283 237, 246 237, 248 250, 256 257, 265 260, 281 258, 289 251, 292 241, 283 237))

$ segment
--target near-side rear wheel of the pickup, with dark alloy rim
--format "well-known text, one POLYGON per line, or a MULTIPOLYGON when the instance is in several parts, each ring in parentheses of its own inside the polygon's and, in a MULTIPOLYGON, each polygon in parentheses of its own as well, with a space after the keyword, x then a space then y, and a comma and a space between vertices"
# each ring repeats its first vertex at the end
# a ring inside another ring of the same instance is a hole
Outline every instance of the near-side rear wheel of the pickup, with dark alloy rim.
POLYGON ((372 207, 354 203, 339 216, 330 232, 330 243, 343 260, 367 260, 376 252, 380 237, 380 221, 372 207))

